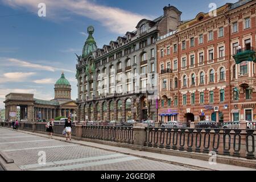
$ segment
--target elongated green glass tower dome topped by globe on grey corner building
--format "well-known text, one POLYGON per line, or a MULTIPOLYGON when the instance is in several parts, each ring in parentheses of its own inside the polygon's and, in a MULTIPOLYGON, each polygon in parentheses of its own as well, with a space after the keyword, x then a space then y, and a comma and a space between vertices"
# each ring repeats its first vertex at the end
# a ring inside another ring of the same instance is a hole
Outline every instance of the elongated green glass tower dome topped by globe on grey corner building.
POLYGON ((96 42, 92 36, 94 32, 93 26, 89 26, 87 28, 87 32, 89 35, 86 42, 84 43, 84 48, 82 49, 82 57, 88 56, 89 53, 96 51, 97 49, 96 42))

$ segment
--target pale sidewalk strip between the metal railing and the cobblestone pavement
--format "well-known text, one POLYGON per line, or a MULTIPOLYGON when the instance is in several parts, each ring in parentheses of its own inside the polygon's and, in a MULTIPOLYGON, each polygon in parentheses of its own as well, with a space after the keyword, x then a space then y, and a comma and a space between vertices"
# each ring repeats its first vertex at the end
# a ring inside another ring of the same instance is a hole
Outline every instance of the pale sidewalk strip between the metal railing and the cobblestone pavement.
MULTIPOLYGON (((30 131, 19 130, 19 132, 20 133, 31 134, 31 135, 36 135, 36 136, 40 136, 40 137, 48 137, 48 135, 46 135, 46 134, 32 133, 30 131)), ((69 141, 69 140, 66 141, 65 138, 63 138, 63 137, 53 136, 52 139, 56 139, 56 140, 60 140, 62 142, 68 142, 68 143, 72 143, 72 144, 79 144, 81 146, 99 148, 99 149, 102 149, 102 150, 105 150, 105 151, 118 152, 118 153, 121 153, 121 154, 136 156, 136 157, 139 157, 139 158, 155 160, 155 161, 158 161, 158 162, 175 164, 175 165, 178 165, 178 166, 189 167, 189 168, 194 168, 194 169, 200 169, 200 170, 256 171, 256 168, 240 167, 240 166, 233 166, 233 165, 221 164, 221 163, 211 165, 211 164, 209 164, 208 161, 205 161, 205 160, 183 158, 183 157, 179 157, 179 156, 158 154, 158 153, 154 153, 154 152, 137 151, 137 150, 132 150, 130 148, 115 147, 115 146, 109 146, 109 145, 106 145, 106 144, 85 142, 85 141, 81 141, 81 140, 73 140, 72 139, 71 141, 69 141)))

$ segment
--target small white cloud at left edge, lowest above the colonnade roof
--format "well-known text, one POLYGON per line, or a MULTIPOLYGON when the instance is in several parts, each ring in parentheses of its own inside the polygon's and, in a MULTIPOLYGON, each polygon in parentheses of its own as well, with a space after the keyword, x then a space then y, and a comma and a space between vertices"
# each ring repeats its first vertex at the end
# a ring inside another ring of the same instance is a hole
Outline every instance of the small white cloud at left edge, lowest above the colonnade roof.
POLYGON ((36 73, 23 73, 23 72, 10 72, 10 73, 3 73, 3 76, 0 76, 0 83, 5 82, 22 82, 27 80, 28 77, 35 75, 36 73))

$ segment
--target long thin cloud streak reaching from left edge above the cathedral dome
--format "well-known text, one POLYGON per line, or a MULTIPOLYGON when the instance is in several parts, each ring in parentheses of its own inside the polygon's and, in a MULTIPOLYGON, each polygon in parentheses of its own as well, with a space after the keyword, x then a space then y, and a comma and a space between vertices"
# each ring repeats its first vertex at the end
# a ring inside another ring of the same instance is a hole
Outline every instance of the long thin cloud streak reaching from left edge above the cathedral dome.
POLYGON ((11 65, 13 65, 15 67, 33 68, 33 69, 39 69, 39 70, 49 71, 49 72, 64 71, 64 72, 75 73, 75 71, 72 71, 70 69, 56 68, 48 65, 35 64, 35 63, 30 63, 24 60, 14 59, 14 58, 0 57, 0 63, 2 63, 1 64, 2 66, 7 66, 7 67, 10 67, 11 65))

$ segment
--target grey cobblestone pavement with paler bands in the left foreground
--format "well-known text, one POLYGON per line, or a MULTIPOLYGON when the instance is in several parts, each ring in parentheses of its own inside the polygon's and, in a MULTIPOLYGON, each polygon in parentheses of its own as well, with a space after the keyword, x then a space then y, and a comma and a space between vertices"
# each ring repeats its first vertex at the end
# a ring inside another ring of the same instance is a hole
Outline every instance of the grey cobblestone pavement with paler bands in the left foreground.
POLYGON ((22 170, 194 170, 3 128, 0 128, 0 150, 14 159, 15 164, 22 170), (39 160, 42 159, 42 154, 46 154, 46 164, 39 164, 43 161, 39 160))

